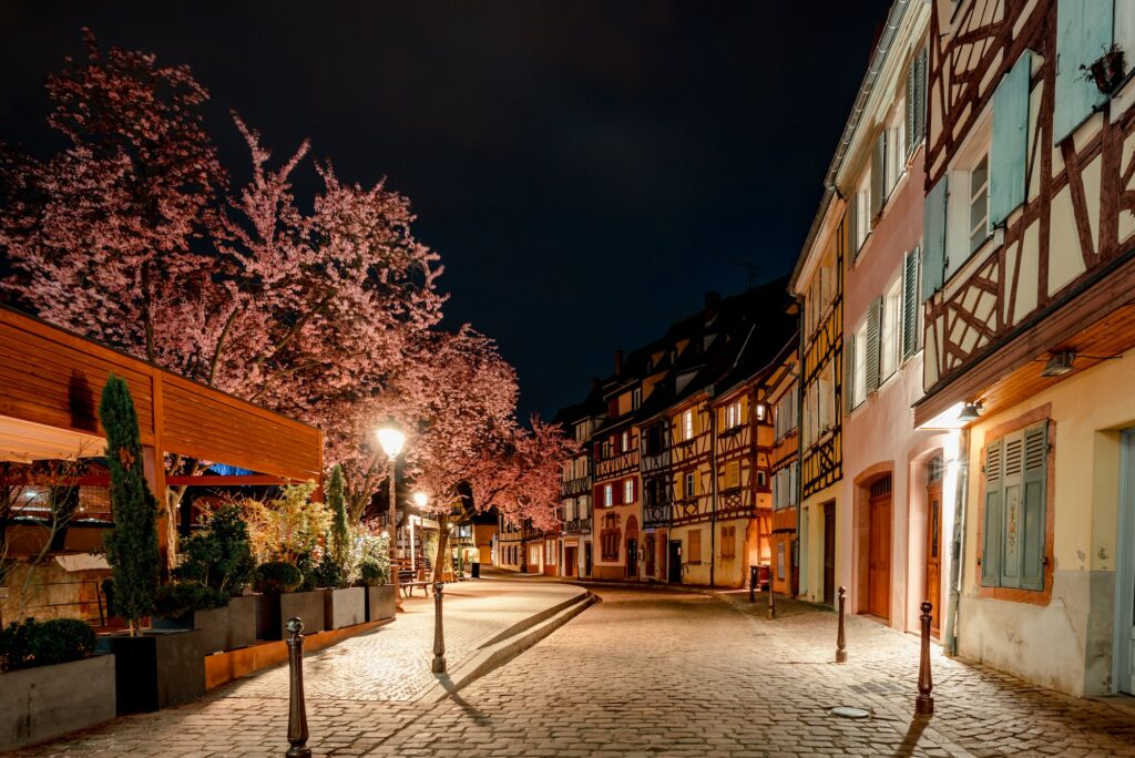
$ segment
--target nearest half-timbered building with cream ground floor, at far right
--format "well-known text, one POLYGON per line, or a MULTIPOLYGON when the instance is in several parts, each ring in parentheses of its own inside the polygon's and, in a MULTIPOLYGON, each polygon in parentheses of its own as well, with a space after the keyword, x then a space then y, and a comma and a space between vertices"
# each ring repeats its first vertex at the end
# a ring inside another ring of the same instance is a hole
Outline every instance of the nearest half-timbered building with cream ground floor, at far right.
POLYGON ((944 623, 1033 682, 1132 692, 1135 3, 932 10, 915 421, 968 424, 944 623))

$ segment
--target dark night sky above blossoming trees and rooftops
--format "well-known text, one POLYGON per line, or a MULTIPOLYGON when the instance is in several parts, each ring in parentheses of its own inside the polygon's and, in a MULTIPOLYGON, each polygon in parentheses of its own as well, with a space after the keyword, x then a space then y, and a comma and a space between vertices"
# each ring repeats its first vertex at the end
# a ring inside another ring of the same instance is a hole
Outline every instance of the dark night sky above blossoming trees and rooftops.
POLYGON ((277 157, 311 137, 409 195, 447 323, 495 337, 550 416, 615 348, 743 290, 733 262, 791 270, 889 5, 0 0, 0 140, 50 152, 43 81, 82 26, 188 64, 235 182, 229 109, 277 157))

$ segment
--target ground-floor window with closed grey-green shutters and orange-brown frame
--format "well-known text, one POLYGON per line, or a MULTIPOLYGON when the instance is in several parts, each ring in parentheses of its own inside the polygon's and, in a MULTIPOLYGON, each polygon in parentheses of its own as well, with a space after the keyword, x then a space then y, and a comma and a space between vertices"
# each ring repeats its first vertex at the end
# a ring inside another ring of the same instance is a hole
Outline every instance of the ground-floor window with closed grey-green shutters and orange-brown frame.
POLYGON ((985 446, 982 584, 1044 589, 1048 421, 985 446))

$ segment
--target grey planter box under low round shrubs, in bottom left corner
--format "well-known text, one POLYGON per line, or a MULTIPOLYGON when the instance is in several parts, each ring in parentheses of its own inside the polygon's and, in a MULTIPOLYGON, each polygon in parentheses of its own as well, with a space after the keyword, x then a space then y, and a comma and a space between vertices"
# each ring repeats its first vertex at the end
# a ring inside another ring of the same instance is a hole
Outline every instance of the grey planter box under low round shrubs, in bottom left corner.
POLYGON ((0 674, 0 751, 114 717, 114 656, 0 674))

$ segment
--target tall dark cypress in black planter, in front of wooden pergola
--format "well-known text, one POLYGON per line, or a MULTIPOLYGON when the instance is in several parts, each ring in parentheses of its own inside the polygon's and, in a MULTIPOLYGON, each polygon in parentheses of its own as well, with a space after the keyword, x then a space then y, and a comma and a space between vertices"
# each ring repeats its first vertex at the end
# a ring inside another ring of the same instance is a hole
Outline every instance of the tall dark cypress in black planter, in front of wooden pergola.
POLYGON ((114 570, 112 612, 129 628, 128 634, 99 640, 100 649, 115 654, 117 709, 127 714, 188 702, 205 691, 201 633, 142 634, 142 620, 153 613, 158 590, 158 502, 145 480, 137 413, 121 377, 108 377, 99 419, 107 432, 115 519, 106 537, 107 562, 114 570))

